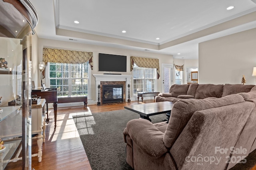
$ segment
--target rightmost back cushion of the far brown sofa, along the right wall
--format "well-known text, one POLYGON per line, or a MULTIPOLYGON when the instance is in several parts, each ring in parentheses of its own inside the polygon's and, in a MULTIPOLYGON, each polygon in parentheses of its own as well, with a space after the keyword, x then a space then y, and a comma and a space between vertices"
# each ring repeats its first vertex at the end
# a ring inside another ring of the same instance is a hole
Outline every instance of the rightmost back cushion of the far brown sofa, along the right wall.
POLYGON ((230 94, 238 94, 240 92, 250 92, 255 85, 243 85, 243 84, 225 84, 222 90, 222 97, 230 94))

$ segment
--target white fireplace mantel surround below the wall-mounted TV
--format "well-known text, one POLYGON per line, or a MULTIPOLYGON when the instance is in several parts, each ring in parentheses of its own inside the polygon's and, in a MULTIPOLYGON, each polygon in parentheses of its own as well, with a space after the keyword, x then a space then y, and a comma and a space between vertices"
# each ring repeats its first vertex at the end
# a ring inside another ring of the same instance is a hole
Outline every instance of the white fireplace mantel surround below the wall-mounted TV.
MULTIPOLYGON (((128 84, 130 84, 131 82, 131 78, 132 75, 123 75, 123 74, 92 74, 95 77, 96 80, 96 86, 95 86, 95 91, 96 91, 96 100, 98 99, 98 85, 100 84, 100 82, 104 82, 104 81, 125 81, 126 85, 126 96, 128 96, 128 84)), ((131 86, 131 85, 130 85, 131 86)), ((131 90, 131 89, 130 89, 131 90)), ((126 98, 126 101, 128 100, 128 98, 126 98)), ((125 102, 126 102, 125 101, 125 102)), ((97 104, 97 101, 96 101, 97 104)))

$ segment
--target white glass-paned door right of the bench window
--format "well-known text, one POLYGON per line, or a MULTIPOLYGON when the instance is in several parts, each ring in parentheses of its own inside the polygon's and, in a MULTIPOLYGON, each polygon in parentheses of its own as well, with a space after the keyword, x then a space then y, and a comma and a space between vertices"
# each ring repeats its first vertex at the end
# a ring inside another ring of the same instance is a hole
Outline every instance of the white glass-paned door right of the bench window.
POLYGON ((168 93, 172 85, 172 64, 162 64, 162 92, 168 93))

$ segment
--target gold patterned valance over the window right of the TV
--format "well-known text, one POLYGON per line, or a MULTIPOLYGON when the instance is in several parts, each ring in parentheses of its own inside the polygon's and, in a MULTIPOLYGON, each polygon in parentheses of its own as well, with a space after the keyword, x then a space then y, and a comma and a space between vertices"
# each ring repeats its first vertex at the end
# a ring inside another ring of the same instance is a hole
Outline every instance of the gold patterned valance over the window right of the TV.
POLYGON ((159 60, 158 59, 131 56, 131 71, 133 70, 134 63, 138 67, 156 68, 157 79, 159 79, 159 77, 160 77, 160 68, 159 68, 159 60))

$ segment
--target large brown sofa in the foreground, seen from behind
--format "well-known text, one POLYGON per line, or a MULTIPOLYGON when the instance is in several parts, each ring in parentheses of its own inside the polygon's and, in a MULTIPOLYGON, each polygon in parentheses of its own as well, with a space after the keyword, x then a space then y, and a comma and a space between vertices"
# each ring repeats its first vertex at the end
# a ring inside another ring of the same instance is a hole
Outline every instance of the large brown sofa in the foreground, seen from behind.
MULTIPOLYGON (((215 87, 216 91, 220 88, 215 87)), ((198 94, 204 99, 178 100, 168 124, 129 121, 124 129, 128 164, 134 170, 226 170, 246 163, 246 156, 256 152, 256 88, 246 86, 251 92, 228 95, 239 88, 231 84, 226 87, 220 88, 224 97, 218 91, 207 96, 198 94), (245 159, 238 164, 241 158, 245 159)), ((180 95, 191 95, 194 89, 188 92, 189 87, 185 88, 186 94, 180 90, 180 95)), ((240 90, 245 89, 241 86, 240 90)))

